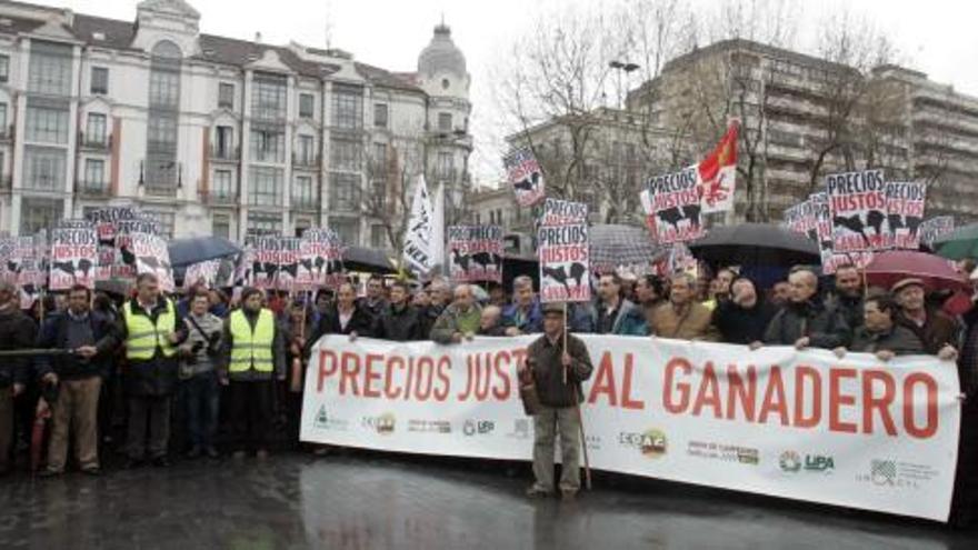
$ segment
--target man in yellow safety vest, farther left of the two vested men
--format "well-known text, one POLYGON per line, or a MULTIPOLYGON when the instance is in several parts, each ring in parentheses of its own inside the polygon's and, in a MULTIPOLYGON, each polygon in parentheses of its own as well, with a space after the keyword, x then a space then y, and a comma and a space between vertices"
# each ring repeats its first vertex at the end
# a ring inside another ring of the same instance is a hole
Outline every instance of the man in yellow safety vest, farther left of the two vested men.
POLYGON ((177 346, 187 338, 187 330, 173 302, 160 293, 154 274, 140 274, 136 292, 136 298, 122 304, 116 327, 118 343, 126 347, 128 366, 123 371, 129 402, 126 467, 141 466, 147 458, 154 466, 167 467, 170 410, 177 389, 177 346))

